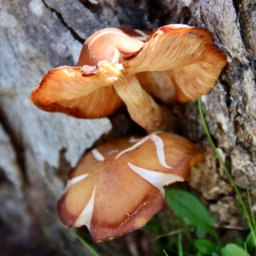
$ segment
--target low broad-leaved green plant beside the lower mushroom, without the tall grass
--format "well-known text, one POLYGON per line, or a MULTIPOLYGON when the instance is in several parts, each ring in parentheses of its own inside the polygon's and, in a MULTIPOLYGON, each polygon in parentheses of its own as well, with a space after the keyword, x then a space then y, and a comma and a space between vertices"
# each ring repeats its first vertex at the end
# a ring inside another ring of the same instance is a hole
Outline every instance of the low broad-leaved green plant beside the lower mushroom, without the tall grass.
MULTIPOLYGON (((214 230, 216 220, 207 212, 204 205, 195 196, 187 191, 180 189, 167 189, 166 201, 170 208, 178 216, 184 225, 184 233, 189 246, 189 253, 192 255, 203 256, 248 256, 246 247, 242 248, 238 244, 223 244, 220 237, 214 230), (186 227, 187 226, 187 227, 186 227), (189 229, 188 229, 189 227, 189 229)), ((180 234, 180 232, 179 232, 180 234)), ((179 256, 189 255, 188 253, 180 254, 179 241, 177 240, 177 248, 179 256)), ((253 239, 250 239, 250 250, 253 249, 253 239)))

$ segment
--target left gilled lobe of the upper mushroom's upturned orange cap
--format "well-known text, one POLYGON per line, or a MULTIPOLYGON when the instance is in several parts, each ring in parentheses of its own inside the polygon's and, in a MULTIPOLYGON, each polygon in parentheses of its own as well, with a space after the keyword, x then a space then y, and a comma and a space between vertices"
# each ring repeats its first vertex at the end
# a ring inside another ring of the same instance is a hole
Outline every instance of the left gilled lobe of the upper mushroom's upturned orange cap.
POLYGON ((82 67, 58 67, 43 77, 39 86, 31 92, 31 101, 40 109, 60 112, 77 118, 100 118, 114 113, 122 100, 111 84, 113 71, 104 65, 97 74, 82 76, 82 67), (100 89, 100 90, 97 90, 100 89))

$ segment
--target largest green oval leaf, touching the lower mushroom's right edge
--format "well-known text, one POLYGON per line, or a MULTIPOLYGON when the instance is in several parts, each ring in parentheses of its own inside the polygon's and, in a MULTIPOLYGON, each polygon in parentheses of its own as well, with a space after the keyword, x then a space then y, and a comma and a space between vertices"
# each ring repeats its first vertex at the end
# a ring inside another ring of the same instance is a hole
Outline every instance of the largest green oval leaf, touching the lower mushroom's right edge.
POLYGON ((216 223, 215 218, 209 215, 204 205, 190 193, 180 189, 166 189, 165 196, 175 214, 196 227, 196 234, 199 237, 204 236, 216 223))

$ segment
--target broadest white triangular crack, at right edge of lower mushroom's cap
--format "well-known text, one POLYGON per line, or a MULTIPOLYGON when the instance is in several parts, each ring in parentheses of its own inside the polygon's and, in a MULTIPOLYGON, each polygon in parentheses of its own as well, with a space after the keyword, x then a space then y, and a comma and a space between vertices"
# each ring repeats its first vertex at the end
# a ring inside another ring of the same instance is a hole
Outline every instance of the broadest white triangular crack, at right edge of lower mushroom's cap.
POLYGON ((134 172, 140 175, 143 179, 147 180, 154 187, 158 188, 163 194, 163 196, 164 196, 163 186, 171 184, 176 181, 184 181, 182 177, 175 174, 147 170, 145 168, 135 166, 134 164, 131 164, 131 163, 128 163, 128 165, 134 172))

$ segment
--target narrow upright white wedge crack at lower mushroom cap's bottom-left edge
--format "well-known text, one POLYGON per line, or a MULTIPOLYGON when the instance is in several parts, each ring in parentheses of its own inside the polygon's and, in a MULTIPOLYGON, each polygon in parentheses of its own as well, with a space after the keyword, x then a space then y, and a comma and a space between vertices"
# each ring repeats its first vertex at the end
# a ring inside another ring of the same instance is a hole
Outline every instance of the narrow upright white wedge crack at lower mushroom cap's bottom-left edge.
POLYGON ((81 227, 83 225, 86 225, 88 227, 88 229, 90 230, 90 223, 92 220, 92 214, 93 214, 93 208, 94 208, 95 191, 96 191, 96 186, 93 189, 92 196, 91 196, 90 200, 84 207, 81 214, 76 219, 76 222, 74 223, 74 227, 81 227))

